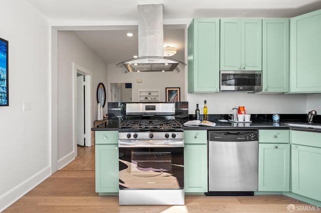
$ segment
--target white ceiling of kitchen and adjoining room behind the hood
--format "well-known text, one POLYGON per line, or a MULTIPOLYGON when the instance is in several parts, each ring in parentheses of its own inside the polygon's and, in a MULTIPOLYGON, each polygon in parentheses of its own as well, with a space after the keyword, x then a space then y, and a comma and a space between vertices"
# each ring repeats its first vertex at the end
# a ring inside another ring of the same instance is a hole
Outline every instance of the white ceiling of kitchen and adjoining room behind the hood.
MULTIPOLYGON (((137 5, 163 3, 164 19, 193 17, 293 17, 321 8, 321 0, 27 0, 49 19, 137 21, 137 5)), ((81 30, 78 36, 107 63, 138 52, 137 26, 128 30, 81 30)), ((129 29, 128 28, 128 29, 129 29)), ((185 29, 164 27, 164 45, 174 45, 172 58, 184 61, 185 29)))

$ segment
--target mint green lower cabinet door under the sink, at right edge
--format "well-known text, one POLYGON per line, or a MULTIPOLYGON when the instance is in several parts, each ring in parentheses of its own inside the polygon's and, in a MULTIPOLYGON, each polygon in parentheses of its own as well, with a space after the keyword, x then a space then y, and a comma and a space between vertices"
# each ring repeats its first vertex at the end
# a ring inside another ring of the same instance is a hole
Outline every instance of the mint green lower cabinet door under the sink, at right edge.
POLYGON ((292 192, 321 201, 321 148, 292 144, 292 192))

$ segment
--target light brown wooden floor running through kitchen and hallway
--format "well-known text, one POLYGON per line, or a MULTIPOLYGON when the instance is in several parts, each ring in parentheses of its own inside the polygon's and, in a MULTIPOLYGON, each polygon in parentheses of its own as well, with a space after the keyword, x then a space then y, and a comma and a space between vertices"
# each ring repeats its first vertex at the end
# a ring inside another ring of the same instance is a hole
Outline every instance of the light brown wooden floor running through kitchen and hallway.
POLYGON ((78 146, 75 160, 56 171, 4 212, 289 212, 289 204, 312 206, 284 195, 186 195, 185 205, 119 206, 118 196, 98 196, 95 192, 94 152, 94 146, 78 146))

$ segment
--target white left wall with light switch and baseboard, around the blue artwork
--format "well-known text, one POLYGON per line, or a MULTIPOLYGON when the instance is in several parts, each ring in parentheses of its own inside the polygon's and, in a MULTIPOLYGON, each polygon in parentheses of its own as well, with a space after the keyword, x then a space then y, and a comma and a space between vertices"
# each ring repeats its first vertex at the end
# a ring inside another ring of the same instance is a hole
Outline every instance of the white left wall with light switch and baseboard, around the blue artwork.
POLYGON ((0 107, 0 211, 50 175, 49 24, 24 0, 0 0, 9 40, 9 106, 0 107), (23 102, 31 111, 23 111, 23 102))

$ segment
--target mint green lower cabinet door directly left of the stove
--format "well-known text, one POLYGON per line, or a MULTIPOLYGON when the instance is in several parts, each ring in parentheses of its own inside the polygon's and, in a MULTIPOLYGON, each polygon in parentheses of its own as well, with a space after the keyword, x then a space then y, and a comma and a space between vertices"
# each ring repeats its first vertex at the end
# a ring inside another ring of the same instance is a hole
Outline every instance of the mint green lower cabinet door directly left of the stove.
POLYGON ((96 192, 118 192, 118 144, 95 145, 96 192))

